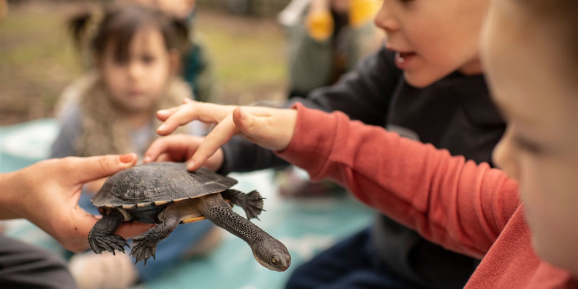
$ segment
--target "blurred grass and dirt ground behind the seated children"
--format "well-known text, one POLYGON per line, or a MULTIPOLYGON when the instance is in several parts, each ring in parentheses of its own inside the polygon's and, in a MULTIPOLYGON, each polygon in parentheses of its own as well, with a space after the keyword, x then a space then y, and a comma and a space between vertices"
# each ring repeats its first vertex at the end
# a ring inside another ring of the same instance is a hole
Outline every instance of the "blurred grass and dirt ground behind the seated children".
MULTIPOLYGON (((78 2, 10 2, 0 22, 0 125, 53 116, 63 88, 83 70, 64 20, 78 2)), ((284 31, 274 20, 198 12, 220 102, 280 100, 286 91, 284 31)))

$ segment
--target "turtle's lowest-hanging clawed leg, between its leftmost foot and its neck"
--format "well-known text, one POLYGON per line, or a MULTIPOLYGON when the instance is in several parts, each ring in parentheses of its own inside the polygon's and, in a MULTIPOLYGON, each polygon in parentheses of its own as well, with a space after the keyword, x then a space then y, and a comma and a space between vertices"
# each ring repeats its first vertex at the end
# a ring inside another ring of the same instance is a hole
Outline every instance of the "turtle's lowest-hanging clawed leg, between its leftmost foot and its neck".
POLYGON ((148 233, 132 238, 131 255, 136 259, 135 264, 139 261, 144 261, 144 265, 146 265, 148 258, 153 257, 154 259, 158 242, 171 235, 179 223, 180 218, 175 214, 170 214, 164 222, 151 229, 148 233))

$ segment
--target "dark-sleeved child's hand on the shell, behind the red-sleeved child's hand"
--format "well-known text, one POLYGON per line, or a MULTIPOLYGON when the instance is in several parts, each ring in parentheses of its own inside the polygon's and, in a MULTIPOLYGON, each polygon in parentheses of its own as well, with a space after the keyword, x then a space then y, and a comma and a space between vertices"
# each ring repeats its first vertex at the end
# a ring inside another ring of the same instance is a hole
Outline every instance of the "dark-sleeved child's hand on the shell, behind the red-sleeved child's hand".
MULTIPOLYGON (((194 135, 169 135, 156 139, 144 153, 144 163, 153 161, 188 161, 197 151, 205 138, 194 135)), ((223 150, 211 155, 203 164, 211 171, 218 171, 223 166, 223 150)))

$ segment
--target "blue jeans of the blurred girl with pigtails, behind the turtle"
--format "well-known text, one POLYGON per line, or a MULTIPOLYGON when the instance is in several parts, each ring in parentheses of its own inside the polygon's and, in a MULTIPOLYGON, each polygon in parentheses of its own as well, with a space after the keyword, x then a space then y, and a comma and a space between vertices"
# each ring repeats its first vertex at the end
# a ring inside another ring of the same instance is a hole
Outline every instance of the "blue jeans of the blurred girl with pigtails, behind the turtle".
MULTIPOLYGON (((78 202, 80 207, 87 210, 88 213, 100 214, 97 207, 90 202, 91 197, 87 194, 81 195, 78 202)), ((153 280, 171 269, 181 260, 183 254, 195 246, 212 228, 214 225, 209 220, 177 226, 168 238, 158 243, 154 260, 152 258, 147 260, 146 266, 144 266, 144 262, 135 265, 139 272, 139 280, 144 282, 153 280)), ((136 261, 134 257, 132 261, 136 261)))

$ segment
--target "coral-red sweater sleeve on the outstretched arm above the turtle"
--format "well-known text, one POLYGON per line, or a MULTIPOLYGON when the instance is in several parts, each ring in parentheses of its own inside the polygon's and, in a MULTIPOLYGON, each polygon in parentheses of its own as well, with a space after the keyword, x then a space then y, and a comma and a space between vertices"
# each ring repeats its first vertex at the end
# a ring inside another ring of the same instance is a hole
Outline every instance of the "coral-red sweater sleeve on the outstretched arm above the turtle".
POLYGON ((281 158, 313 180, 338 181, 366 205, 447 249, 483 257, 520 205, 516 182, 487 164, 340 112, 295 108, 295 135, 277 152, 281 158))

